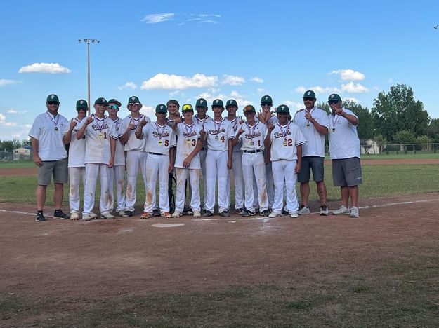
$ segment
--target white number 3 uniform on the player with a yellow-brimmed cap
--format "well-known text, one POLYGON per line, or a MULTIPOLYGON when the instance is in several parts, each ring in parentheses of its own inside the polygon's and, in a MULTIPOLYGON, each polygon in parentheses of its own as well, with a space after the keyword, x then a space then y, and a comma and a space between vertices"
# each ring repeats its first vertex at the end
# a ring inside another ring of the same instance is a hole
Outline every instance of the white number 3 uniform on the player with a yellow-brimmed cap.
POLYGON ((201 170, 201 163, 199 160, 199 153, 195 155, 190 161, 188 168, 183 165, 183 160, 194 151, 199 139, 199 131, 202 126, 197 123, 188 125, 185 122, 178 123, 176 130, 177 149, 176 149, 176 211, 183 212, 185 207, 185 182, 189 175, 190 188, 192 194, 190 198, 190 207, 192 210, 201 210, 199 198, 199 171, 201 170))

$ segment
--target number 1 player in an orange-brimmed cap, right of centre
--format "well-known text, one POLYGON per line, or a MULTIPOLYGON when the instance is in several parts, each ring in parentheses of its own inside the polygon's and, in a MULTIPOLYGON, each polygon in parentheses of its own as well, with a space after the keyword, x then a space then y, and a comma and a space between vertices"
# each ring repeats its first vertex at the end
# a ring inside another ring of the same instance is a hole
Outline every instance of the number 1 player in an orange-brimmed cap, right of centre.
POLYGON ((244 115, 247 122, 240 125, 233 144, 241 141, 242 151, 242 175, 245 185, 245 208, 243 217, 256 214, 254 209, 254 180, 256 180, 259 212, 263 217, 268 217, 268 197, 266 188, 266 163, 263 157, 264 140, 268 128, 265 124, 255 120, 256 109, 247 105, 244 107, 244 115))

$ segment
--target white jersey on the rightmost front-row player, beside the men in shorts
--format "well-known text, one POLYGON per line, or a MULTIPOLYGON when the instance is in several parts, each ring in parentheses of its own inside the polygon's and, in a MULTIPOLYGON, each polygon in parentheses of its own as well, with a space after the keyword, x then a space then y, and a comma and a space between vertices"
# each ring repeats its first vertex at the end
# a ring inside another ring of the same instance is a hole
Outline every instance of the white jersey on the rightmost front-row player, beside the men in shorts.
POLYGON ((296 160, 296 146, 306 143, 299 126, 292 122, 287 125, 275 124, 275 128, 271 131, 271 161, 275 160, 296 160))

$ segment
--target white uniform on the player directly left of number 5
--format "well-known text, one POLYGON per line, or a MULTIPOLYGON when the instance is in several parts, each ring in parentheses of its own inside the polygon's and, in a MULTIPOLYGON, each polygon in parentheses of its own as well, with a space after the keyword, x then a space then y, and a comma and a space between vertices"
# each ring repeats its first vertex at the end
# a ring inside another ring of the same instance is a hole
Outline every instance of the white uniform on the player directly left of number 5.
MULTIPOLYGON (((146 190, 146 158, 148 153, 146 152, 146 139, 137 139, 136 131, 140 126, 140 122, 147 122, 147 125, 151 123, 148 116, 140 114, 139 118, 133 118, 131 115, 126 116, 120 124, 119 132, 123 135, 130 124, 134 127, 129 131, 128 140, 124 144, 124 151, 126 151, 126 200, 125 210, 134 211, 134 205, 136 205, 136 186, 137 186, 137 174, 140 165, 140 172, 142 172, 143 184, 146 190)), ((119 137, 120 137, 119 135, 119 137)))

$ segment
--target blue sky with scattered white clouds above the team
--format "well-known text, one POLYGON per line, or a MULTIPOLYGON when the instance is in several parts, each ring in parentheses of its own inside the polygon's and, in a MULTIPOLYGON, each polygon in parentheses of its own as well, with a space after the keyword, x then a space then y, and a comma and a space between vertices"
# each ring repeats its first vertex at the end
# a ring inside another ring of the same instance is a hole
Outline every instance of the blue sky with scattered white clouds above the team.
MULTIPOLYGON (((438 1, 4 1, 0 139, 27 138, 49 93, 75 116, 91 101, 138 95, 142 111, 169 99, 216 97, 302 107, 336 92, 372 107, 396 83, 439 117, 438 1)), ((209 109, 210 112, 210 109, 209 109)), ((152 117, 153 118, 153 117, 152 117)))

